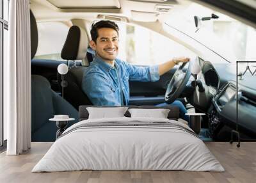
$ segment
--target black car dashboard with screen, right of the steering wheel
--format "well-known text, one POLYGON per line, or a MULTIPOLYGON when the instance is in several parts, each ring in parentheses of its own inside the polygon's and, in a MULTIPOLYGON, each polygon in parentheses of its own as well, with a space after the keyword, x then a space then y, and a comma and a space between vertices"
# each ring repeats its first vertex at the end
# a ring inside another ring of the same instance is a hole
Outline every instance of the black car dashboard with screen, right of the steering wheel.
POLYGON ((228 80, 223 83, 223 75, 221 75, 222 78, 219 76, 218 68, 216 70, 211 62, 200 58, 199 65, 202 72, 198 74, 197 79, 202 82, 205 90, 200 93, 196 89, 187 99, 197 111, 207 114, 207 126, 212 138, 227 141, 230 139, 230 130, 236 129, 237 126, 239 132, 246 134, 246 138, 255 138, 256 90, 248 86, 246 82, 248 80, 243 79, 239 82, 239 90, 236 91, 236 81, 228 80), (238 92, 238 120, 236 119, 236 92, 238 92))

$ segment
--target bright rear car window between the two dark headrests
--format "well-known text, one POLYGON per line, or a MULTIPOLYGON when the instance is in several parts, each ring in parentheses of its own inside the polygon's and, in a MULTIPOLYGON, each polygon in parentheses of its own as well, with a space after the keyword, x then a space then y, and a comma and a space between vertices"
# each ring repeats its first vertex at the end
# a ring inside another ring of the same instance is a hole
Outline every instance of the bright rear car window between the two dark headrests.
POLYGON ((64 22, 37 22, 38 49, 35 58, 62 60, 61 49, 69 27, 64 22))

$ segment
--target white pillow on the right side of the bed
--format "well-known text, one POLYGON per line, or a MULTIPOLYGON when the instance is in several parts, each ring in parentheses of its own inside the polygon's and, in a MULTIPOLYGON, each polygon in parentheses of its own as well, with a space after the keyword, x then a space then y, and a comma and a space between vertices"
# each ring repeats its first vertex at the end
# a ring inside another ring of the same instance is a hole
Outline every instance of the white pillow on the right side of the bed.
POLYGON ((150 117, 150 118, 167 118, 170 109, 128 109, 131 118, 150 117))

